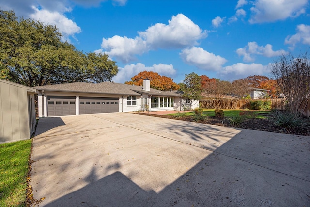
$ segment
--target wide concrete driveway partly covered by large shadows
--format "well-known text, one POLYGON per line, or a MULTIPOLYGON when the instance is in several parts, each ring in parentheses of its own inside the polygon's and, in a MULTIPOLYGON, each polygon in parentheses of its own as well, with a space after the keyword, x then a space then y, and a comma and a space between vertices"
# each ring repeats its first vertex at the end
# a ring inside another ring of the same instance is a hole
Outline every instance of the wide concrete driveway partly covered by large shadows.
POLYGON ((42 118, 47 207, 310 206, 310 137, 131 113, 42 118))

